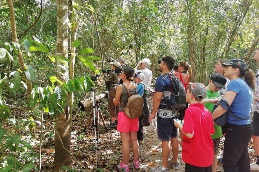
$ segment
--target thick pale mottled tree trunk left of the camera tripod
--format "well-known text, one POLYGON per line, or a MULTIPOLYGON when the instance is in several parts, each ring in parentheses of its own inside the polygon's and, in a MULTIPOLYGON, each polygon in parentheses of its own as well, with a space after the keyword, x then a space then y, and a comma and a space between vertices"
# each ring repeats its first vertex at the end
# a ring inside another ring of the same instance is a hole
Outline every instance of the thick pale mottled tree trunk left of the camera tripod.
MULTIPOLYGON (((67 0, 57 0, 57 53, 68 58, 68 13, 67 0)), ((62 70, 58 65, 63 65, 57 60, 57 76, 60 80, 66 81, 69 77, 68 72, 62 70), (62 75, 62 74, 64 75, 62 75)), ((68 64, 67 64, 68 66, 68 64)), ((66 65, 64 67, 68 68, 66 65)), ((70 150, 70 115, 69 115, 69 99, 67 94, 67 105, 65 113, 57 115, 56 129, 61 137, 64 147, 70 150)), ((55 168, 54 171, 59 171, 60 167, 72 166, 70 154, 65 151, 55 134, 55 168)))

